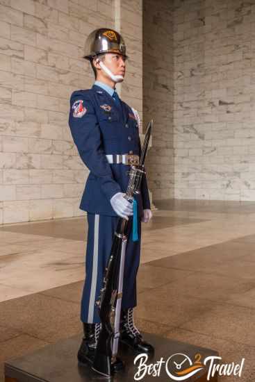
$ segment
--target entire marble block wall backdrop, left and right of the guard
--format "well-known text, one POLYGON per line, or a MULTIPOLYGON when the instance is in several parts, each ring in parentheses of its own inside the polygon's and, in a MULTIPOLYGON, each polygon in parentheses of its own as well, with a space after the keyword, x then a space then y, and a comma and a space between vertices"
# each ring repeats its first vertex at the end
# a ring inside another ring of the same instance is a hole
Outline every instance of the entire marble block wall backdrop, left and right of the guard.
POLYGON ((254 200, 254 20, 254 1, 0 0, 0 224, 83 215, 69 95, 103 25, 126 41, 122 99, 154 118, 154 199, 254 200))

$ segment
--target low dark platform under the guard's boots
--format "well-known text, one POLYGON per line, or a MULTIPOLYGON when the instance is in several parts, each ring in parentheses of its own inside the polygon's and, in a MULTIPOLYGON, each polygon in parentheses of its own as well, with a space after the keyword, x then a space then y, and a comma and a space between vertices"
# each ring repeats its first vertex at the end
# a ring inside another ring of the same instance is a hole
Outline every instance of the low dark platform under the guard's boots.
MULTIPOLYGON (((201 363, 206 356, 218 356, 217 351, 196 347, 191 344, 186 344, 179 341, 169 340, 159 337, 158 335, 143 333, 145 340, 154 345, 156 351, 153 357, 147 360, 147 364, 156 363, 156 361, 167 361, 170 356, 176 353, 185 354, 194 361, 199 359, 196 354, 201 354, 201 363)), ((5 363, 6 382, 88 382, 88 381, 135 381, 134 375, 138 372, 138 365, 133 365, 134 356, 129 349, 120 347, 120 357, 125 361, 125 372, 115 374, 110 379, 100 376, 93 372, 90 367, 78 365, 76 354, 81 343, 81 335, 61 340, 56 344, 50 344, 46 347, 35 351, 33 354, 28 354, 24 357, 10 360, 5 363)), ((176 363, 181 363, 185 359, 183 356, 175 356, 171 358, 168 369, 174 372, 172 368, 174 360, 176 363), (172 362, 172 363, 171 363, 172 362)), ((188 360, 184 361, 185 368, 189 366, 188 360)), ((183 369, 184 367, 181 367, 183 369)), ((207 366, 207 365, 206 365, 207 366)), ((185 381, 206 382, 207 369, 202 369, 197 374, 191 376, 185 381)), ((152 376, 146 374, 140 379, 142 382, 147 381, 174 381, 165 372, 165 363, 161 367, 160 376, 152 376)), ((210 379, 211 382, 217 381, 217 376, 210 379)))

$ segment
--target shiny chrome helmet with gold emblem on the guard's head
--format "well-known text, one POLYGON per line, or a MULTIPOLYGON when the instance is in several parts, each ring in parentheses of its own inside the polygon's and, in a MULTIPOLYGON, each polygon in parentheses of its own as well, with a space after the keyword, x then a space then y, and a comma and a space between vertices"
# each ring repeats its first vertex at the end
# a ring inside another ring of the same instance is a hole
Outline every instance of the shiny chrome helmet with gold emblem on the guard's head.
POLYGON ((102 53, 119 53, 127 57, 126 45, 120 33, 109 28, 99 28, 88 35, 83 58, 92 60, 102 53))

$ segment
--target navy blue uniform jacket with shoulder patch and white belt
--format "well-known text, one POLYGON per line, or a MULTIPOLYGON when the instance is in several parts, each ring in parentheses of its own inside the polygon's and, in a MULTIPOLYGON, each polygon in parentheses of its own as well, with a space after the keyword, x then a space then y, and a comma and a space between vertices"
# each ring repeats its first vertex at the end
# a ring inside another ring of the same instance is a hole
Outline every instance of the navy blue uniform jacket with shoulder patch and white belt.
MULTIPOLYGON (((122 111, 113 97, 97 85, 88 90, 77 90, 70 99, 69 127, 83 163, 90 169, 79 208, 89 213, 117 216, 110 204, 116 192, 126 192, 129 165, 110 164, 106 154, 140 155, 141 145, 138 122, 132 109, 123 101, 122 111), (76 102, 76 103, 75 103, 76 102), (80 114, 74 116, 74 106, 81 104, 80 114), (85 112, 85 113, 84 113, 85 112), (84 114, 83 114, 84 113, 84 114)), ((150 208, 145 174, 142 178, 138 213, 150 208)))

